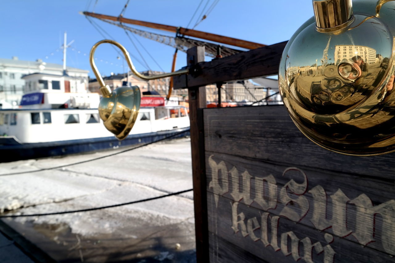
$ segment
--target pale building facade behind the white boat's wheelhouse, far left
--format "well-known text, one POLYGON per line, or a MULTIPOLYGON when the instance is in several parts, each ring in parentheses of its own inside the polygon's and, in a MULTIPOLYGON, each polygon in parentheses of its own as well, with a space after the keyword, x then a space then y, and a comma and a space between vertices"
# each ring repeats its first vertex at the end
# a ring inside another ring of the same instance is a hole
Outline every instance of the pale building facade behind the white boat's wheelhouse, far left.
MULTIPOLYGON (((66 71, 70 77, 77 77, 88 85, 88 70, 67 67, 66 71)), ((3 109, 19 105, 23 93, 29 90, 22 77, 32 73, 63 75, 63 65, 42 60, 24 61, 17 57, 0 58, 0 103, 3 109)))

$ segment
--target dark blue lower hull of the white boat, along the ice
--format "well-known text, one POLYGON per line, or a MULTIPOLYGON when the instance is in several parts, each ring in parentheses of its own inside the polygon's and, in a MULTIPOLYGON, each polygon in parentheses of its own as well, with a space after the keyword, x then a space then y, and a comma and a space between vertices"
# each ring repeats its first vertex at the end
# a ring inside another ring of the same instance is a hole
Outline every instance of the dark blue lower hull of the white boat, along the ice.
POLYGON ((106 149, 117 149, 129 145, 152 143, 163 139, 175 139, 188 136, 189 127, 157 131, 150 133, 132 134, 119 141, 114 136, 45 143, 21 144, 12 137, 0 137, 0 162, 37 159, 51 156, 65 156, 95 152, 106 149))

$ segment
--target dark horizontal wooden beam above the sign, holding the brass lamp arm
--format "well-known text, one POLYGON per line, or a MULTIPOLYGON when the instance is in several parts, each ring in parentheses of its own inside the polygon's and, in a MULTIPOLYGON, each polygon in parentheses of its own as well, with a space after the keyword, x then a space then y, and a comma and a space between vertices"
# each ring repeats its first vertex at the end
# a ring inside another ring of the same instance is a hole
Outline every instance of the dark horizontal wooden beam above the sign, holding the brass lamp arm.
POLYGON ((174 77, 173 88, 205 86, 217 82, 275 75, 278 73, 282 51, 287 42, 201 62, 190 68, 190 74, 174 77))

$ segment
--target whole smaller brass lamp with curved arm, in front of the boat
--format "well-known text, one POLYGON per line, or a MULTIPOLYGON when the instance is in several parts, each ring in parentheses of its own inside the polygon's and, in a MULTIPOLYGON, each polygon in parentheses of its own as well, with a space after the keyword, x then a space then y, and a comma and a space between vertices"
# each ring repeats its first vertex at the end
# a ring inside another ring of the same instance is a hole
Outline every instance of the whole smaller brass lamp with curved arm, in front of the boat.
POLYGON ((132 73, 141 79, 150 80, 178 76, 182 74, 188 74, 188 70, 179 70, 171 73, 152 76, 141 75, 134 68, 128 51, 117 41, 104 39, 93 45, 92 49, 90 50, 89 61, 97 81, 102 86, 100 88, 100 93, 103 96, 99 104, 99 115, 104 122, 105 128, 114 133, 117 139, 122 140, 128 136, 129 132, 133 128, 134 123, 136 122, 136 118, 140 109, 141 94, 138 86, 120 87, 111 92, 110 87, 105 85, 94 61, 94 52, 96 48, 103 43, 109 43, 119 47, 119 49, 124 54, 126 62, 128 62, 132 73))

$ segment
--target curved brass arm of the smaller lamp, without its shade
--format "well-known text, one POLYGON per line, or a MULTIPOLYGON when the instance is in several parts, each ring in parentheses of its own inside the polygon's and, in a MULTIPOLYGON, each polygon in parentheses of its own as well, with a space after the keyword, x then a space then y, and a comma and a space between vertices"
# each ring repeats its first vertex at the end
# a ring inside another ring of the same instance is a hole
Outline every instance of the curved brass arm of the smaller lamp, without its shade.
POLYGON ((119 49, 124 54, 124 56, 126 58, 126 61, 128 62, 129 68, 132 71, 132 73, 134 75, 136 75, 137 77, 141 78, 141 79, 146 79, 146 80, 161 79, 161 78, 166 78, 166 77, 173 77, 173 76, 188 74, 188 72, 189 72, 189 70, 186 69, 186 70, 178 70, 178 71, 171 72, 171 73, 164 73, 164 74, 160 74, 160 75, 152 75, 152 76, 142 75, 139 72, 137 72, 137 70, 133 66, 132 60, 130 59, 130 56, 129 56, 129 52, 124 48, 124 46, 122 46, 117 41, 110 40, 110 39, 104 39, 104 40, 101 40, 101 41, 97 42, 96 44, 94 44, 92 49, 90 49, 90 54, 89 54, 90 66, 92 67, 92 70, 93 70, 93 73, 96 76, 96 79, 98 80, 98 82, 102 86, 102 88, 100 88, 100 92, 102 92, 102 95, 104 97, 107 97, 111 93, 111 90, 110 90, 109 87, 106 87, 106 85, 105 85, 105 83, 103 81, 103 78, 99 74, 98 68, 96 67, 95 62, 94 62, 94 52, 95 52, 96 48, 100 44, 103 44, 103 43, 109 43, 109 44, 113 44, 113 45, 119 47, 119 49))

